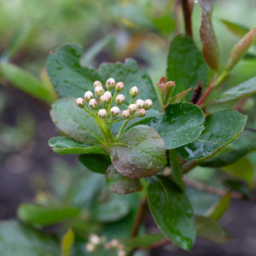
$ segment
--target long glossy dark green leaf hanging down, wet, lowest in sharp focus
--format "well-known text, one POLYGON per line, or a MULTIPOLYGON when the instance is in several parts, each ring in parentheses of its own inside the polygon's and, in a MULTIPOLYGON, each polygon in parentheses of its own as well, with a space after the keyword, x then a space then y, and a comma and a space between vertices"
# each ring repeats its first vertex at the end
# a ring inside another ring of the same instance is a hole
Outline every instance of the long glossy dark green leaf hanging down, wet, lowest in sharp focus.
POLYGON ((149 177, 148 204, 160 230, 174 244, 189 250, 195 241, 195 224, 187 196, 167 177, 149 177))

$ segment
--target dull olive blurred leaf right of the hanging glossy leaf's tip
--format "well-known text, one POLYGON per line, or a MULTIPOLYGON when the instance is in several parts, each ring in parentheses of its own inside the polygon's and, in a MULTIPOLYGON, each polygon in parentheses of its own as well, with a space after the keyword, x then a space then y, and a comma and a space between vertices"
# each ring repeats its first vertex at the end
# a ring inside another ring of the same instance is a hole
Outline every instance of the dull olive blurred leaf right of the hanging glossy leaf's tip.
POLYGON ((195 218, 197 236, 209 241, 224 244, 232 238, 217 221, 198 216, 195 218))

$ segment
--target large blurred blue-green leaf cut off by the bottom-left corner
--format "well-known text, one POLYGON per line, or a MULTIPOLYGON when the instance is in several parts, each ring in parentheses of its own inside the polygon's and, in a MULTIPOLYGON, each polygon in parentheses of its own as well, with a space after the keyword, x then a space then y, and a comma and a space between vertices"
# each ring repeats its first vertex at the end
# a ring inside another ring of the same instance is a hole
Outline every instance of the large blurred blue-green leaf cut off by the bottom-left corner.
POLYGON ((59 245, 54 236, 20 224, 15 220, 0 224, 0 254, 4 256, 59 256, 59 245))

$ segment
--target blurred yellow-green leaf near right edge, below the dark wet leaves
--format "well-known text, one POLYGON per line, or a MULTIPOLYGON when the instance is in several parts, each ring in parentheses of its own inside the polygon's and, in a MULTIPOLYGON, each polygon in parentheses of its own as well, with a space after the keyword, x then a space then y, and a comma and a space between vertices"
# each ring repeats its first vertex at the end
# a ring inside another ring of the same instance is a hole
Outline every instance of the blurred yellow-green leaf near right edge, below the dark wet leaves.
POLYGON ((228 172, 235 177, 240 177, 247 183, 251 183, 254 175, 253 165, 246 157, 237 160, 230 166, 221 168, 224 172, 228 172))

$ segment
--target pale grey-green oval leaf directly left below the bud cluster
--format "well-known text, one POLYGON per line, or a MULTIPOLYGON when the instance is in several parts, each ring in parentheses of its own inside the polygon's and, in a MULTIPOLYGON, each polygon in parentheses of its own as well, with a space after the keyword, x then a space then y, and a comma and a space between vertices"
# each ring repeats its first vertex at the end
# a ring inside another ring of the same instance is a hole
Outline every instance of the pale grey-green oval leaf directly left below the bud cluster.
POLYGON ((50 117, 69 137, 92 145, 101 143, 102 135, 96 120, 76 105, 75 98, 61 98, 52 105, 50 117))

